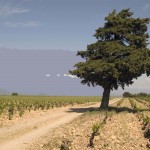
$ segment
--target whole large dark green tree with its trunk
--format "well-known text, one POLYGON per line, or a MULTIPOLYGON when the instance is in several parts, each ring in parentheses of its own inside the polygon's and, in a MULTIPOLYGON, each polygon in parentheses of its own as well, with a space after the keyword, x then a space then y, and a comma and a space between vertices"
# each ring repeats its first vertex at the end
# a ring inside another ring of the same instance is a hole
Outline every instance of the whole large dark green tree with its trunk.
POLYGON ((109 104, 110 91, 133 83, 142 74, 150 74, 150 51, 147 48, 149 18, 134 18, 130 9, 112 11, 105 24, 96 30, 97 41, 78 51, 85 61, 75 64, 72 75, 82 84, 104 89, 100 108, 109 104))

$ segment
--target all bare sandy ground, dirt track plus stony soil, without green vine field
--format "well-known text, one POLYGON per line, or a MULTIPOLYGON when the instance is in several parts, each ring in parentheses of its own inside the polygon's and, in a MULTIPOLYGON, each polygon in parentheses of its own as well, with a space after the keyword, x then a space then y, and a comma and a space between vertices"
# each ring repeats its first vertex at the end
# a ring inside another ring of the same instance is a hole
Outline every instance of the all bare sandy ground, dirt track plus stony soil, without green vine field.
MULTIPOLYGON (((137 105, 144 108, 139 102, 137 105)), ((11 121, 3 118, 0 150, 148 149, 149 139, 144 138, 141 122, 128 99, 112 100, 107 111, 99 111, 98 106, 78 105, 31 112, 11 121), (93 134, 95 129, 98 130, 93 134)))

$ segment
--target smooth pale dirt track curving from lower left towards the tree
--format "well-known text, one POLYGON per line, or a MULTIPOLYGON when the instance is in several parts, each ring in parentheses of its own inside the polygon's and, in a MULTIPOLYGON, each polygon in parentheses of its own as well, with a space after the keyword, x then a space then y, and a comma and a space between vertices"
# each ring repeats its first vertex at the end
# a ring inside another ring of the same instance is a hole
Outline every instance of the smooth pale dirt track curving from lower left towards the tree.
MULTIPOLYGON (((110 101, 115 103, 119 99, 110 101)), ((0 128, 0 150, 25 150, 27 146, 46 134, 50 129, 70 122, 84 112, 70 111, 72 108, 98 107, 99 103, 88 106, 54 108, 43 112, 34 112, 13 124, 0 128)))

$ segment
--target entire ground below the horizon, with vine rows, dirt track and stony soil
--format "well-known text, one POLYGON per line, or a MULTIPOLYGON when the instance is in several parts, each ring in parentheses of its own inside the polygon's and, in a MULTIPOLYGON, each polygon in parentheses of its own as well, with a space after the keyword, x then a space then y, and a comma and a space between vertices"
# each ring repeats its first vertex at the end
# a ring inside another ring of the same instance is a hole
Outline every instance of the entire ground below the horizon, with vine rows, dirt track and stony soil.
MULTIPOLYGON (((85 96, 1 96, 0 117, 5 117, 0 118, 3 121, 0 149, 12 147, 13 139, 13 146, 16 142, 26 143, 30 150, 149 150, 150 98, 115 98, 105 111, 98 109, 99 103, 95 102, 99 99, 85 96), (61 125, 67 117, 74 115, 79 117, 61 125), (51 128, 54 122, 56 126, 51 128), (36 138, 39 132, 43 135, 36 138), (35 139, 28 140, 29 136, 35 139)), ((18 145, 14 147, 17 148, 18 145)))

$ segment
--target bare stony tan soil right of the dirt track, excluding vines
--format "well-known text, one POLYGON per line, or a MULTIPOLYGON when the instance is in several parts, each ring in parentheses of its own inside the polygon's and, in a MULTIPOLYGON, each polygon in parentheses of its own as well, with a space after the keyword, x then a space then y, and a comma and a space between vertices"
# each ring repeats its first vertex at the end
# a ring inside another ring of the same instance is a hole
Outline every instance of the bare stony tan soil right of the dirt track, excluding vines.
MULTIPOLYGON (((112 104, 112 110, 99 112, 92 108, 71 122, 51 129, 29 145, 27 150, 148 150, 146 145, 150 141, 144 138, 137 114, 128 99, 118 105, 120 101, 112 104), (101 123, 106 114, 106 124, 94 137, 94 147, 90 147, 93 125, 101 123)), ((74 111, 83 110, 86 109, 74 111)))

